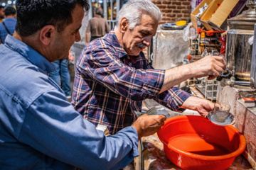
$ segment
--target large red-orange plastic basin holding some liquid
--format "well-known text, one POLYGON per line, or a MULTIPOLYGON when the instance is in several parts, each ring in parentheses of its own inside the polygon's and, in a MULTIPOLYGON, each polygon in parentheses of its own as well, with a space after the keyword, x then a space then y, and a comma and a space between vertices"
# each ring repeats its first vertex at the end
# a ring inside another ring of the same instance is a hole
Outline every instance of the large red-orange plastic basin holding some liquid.
POLYGON ((157 135, 166 157, 182 169, 228 169, 246 146, 232 125, 218 126, 198 115, 169 118, 157 135))

